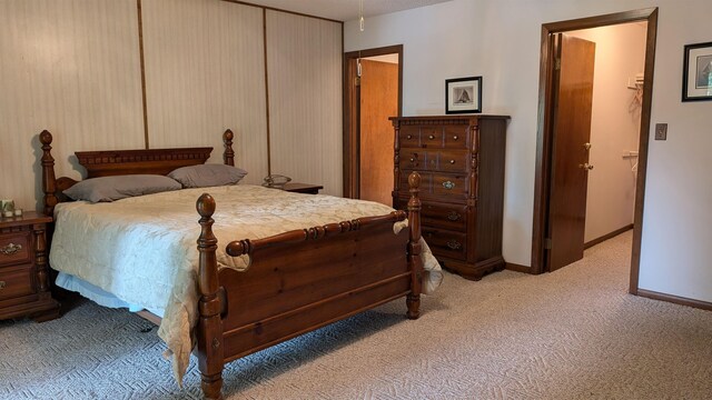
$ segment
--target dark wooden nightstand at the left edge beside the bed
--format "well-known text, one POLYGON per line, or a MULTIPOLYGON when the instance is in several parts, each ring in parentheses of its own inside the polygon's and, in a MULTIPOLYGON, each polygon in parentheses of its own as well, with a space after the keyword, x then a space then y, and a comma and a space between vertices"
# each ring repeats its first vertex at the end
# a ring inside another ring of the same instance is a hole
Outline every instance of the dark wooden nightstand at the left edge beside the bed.
POLYGON ((37 212, 0 219, 0 319, 28 316, 37 322, 59 317, 47 271, 47 224, 37 212))

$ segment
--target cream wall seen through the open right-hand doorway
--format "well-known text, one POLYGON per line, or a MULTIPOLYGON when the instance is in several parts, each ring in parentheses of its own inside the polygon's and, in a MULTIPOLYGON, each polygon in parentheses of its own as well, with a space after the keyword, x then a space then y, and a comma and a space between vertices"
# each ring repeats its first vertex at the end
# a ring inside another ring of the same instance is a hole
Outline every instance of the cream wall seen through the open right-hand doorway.
POLYGON ((567 34, 596 43, 591 118, 591 153, 584 241, 633 223, 641 103, 634 102, 635 74, 643 72, 647 23, 633 22, 567 34))

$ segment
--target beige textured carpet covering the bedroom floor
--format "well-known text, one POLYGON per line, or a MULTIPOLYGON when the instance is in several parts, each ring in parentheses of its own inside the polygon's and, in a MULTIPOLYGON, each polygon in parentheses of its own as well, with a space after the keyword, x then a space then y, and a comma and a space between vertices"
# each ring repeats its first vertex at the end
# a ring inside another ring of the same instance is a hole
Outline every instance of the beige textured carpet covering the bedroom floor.
MULTIPOLYGON (((405 301, 228 366, 228 399, 711 399, 712 312, 626 294, 631 233, 554 273, 447 274, 405 301)), ((674 266, 671 266, 674 268, 674 266)), ((2 399, 199 398, 176 388, 156 329, 83 301, 0 322, 2 399)))

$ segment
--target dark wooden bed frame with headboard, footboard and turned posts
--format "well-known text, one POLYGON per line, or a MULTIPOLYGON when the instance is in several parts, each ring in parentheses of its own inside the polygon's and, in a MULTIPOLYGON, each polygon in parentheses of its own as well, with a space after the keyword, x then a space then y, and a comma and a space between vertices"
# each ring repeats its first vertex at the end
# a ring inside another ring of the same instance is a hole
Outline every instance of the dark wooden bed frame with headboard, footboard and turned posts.
MULTIPOLYGON (((224 161, 235 164, 233 132, 222 134, 224 161)), ((60 194, 77 181, 55 177, 52 136, 40 133, 44 212, 66 201, 60 194)), ((76 152, 87 178, 155 173, 205 163, 211 148, 76 152)), ((230 256, 247 254, 249 268, 218 268, 212 233, 215 200, 197 200, 200 300, 197 324, 201 388, 208 399, 221 399, 224 363, 313 331, 379 304, 406 297, 407 318, 419 317, 421 177, 409 177, 409 229, 393 233, 405 211, 329 223, 226 246, 230 256), (406 233, 407 231, 407 233, 406 233)))

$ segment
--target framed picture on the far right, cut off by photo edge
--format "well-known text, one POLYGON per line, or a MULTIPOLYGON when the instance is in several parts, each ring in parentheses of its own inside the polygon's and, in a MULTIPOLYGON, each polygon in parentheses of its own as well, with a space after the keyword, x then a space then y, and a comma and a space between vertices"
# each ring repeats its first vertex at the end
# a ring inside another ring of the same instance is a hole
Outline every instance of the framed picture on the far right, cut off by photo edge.
POLYGON ((712 100, 712 42, 684 48, 682 101, 703 100, 712 100))

